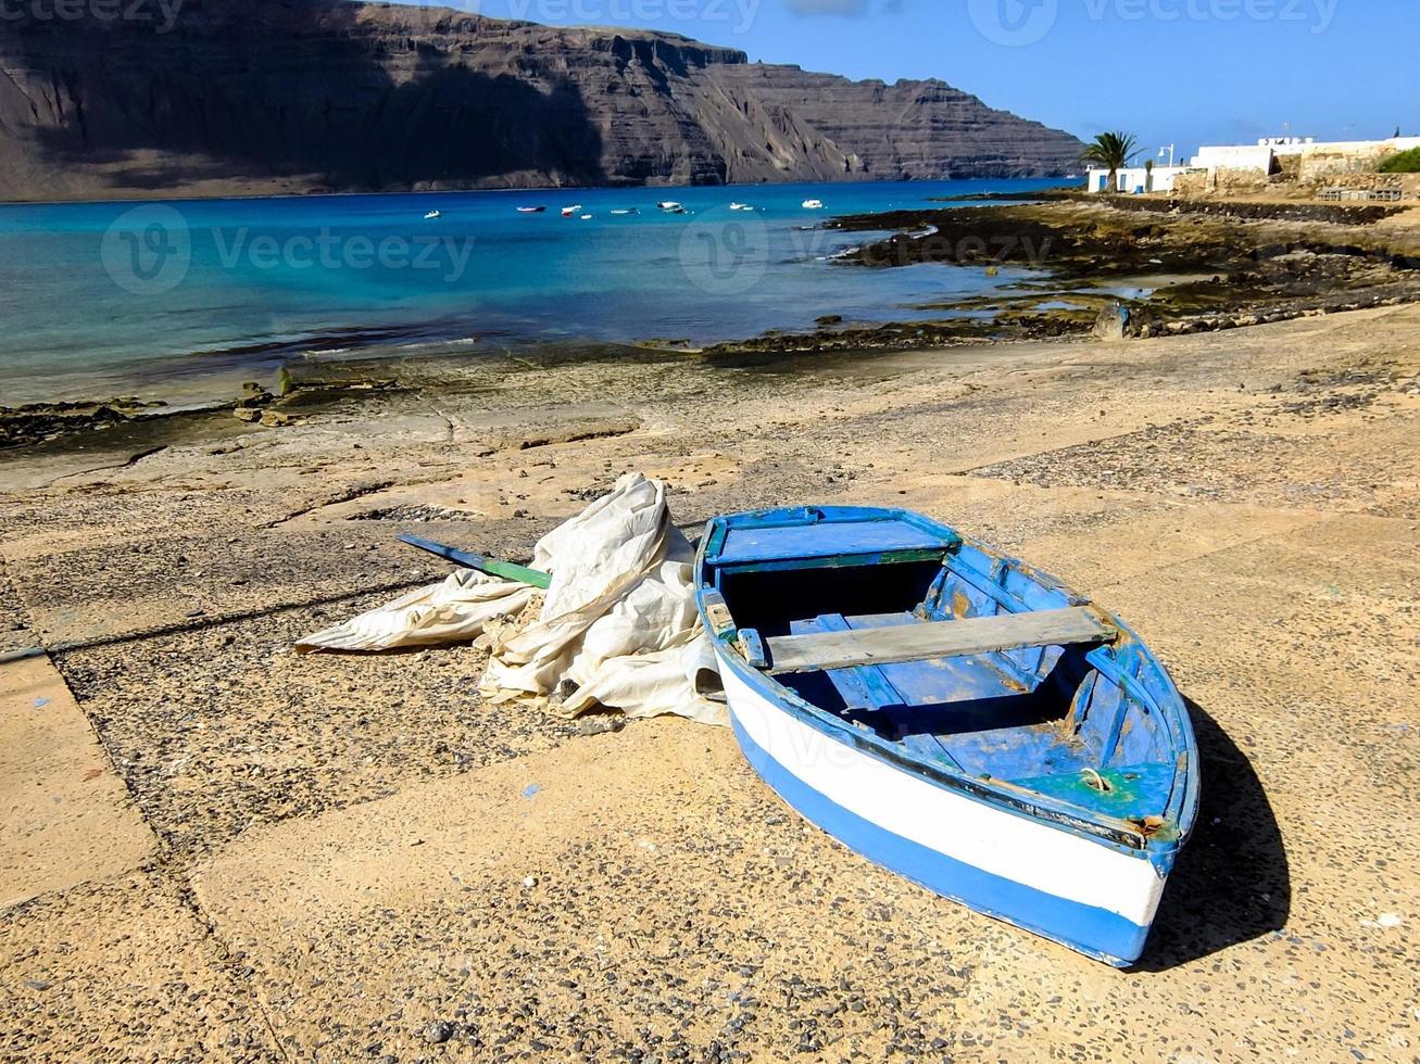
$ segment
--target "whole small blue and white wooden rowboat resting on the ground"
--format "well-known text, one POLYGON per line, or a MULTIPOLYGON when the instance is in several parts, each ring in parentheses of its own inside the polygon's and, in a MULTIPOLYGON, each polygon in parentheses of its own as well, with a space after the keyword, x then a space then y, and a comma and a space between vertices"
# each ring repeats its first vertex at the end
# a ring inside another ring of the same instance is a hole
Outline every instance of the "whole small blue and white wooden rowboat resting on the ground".
POLYGON ((740 748, 788 804, 943 897, 1139 959, 1198 750, 1123 621, 893 509, 714 518, 696 586, 740 748))

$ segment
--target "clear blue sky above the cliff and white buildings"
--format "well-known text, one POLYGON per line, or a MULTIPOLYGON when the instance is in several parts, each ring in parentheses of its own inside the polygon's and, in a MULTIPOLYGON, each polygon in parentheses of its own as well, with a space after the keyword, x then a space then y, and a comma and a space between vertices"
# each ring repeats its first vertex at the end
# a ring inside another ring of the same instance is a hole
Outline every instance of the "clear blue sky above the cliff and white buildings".
POLYGON ((853 78, 936 77, 1085 139, 1420 135, 1416 0, 444 0, 639 26, 853 78))

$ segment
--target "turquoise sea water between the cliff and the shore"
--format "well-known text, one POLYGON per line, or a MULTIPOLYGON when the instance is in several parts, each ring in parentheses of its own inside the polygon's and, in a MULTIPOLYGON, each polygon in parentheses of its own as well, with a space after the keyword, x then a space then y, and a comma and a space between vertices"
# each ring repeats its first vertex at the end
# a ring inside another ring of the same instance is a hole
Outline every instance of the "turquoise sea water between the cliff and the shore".
POLYGON ((811 328, 826 314, 910 318, 919 304, 1018 274, 836 264, 863 235, 816 228, 826 217, 1056 183, 0 206, 0 406, 112 392, 197 397, 312 355, 704 343, 811 328), (805 210, 807 199, 825 209, 805 210), (657 200, 687 213, 663 213, 657 200), (547 210, 517 211, 530 206, 547 210), (579 210, 564 217, 569 206, 579 210))

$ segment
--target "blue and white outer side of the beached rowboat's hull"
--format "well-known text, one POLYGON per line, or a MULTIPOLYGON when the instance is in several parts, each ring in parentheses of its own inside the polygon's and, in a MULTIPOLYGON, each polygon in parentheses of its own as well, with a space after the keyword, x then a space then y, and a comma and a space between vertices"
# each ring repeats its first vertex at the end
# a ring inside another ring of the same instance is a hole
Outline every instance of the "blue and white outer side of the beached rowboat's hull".
POLYGON ((805 819, 870 861, 1112 965, 1143 952, 1166 860, 1055 827, 832 736, 717 648, 734 733, 758 775, 805 819))

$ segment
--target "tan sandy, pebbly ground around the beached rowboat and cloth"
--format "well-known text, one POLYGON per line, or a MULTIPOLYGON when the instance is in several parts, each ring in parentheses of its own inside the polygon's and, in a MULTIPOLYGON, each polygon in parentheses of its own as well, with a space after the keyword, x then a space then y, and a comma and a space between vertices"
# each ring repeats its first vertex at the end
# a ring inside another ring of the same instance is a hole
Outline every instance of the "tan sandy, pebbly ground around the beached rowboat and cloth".
POLYGON ((0 457, 0 654, 50 648, 0 665, 0 1060, 1417 1060, 1420 306, 284 410, 0 457), (869 865, 727 731, 291 653, 443 575, 396 532, 525 559, 630 470, 692 532, 923 511, 1133 624, 1203 755, 1145 962, 869 865))

